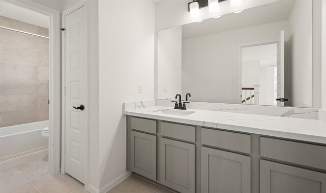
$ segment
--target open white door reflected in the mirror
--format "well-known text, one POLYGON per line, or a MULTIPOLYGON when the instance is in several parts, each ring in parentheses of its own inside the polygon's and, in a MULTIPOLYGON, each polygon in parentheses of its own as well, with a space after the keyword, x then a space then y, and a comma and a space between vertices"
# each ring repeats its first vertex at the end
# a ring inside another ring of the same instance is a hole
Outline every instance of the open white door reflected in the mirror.
POLYGON ((277 41, 277 106, 284 106, 284 31, 277 41))

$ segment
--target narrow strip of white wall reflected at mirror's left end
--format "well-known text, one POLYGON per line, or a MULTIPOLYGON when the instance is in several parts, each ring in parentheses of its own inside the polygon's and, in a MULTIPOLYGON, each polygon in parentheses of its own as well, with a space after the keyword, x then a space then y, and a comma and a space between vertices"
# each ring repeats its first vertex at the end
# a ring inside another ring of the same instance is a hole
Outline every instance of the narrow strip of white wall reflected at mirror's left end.
POLYGON ((181 26, 157 32, 157 99, 181 94, 181 46, 181 26))

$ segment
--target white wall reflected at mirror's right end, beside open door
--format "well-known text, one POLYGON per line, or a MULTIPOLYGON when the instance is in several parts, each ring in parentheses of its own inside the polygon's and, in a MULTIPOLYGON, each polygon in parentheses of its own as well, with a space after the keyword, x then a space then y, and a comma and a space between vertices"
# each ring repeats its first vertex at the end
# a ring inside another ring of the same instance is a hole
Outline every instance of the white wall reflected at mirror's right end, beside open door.
POLYGON ((312 1, 296 1, 288 18, 289 105, 312 105, 312 1))

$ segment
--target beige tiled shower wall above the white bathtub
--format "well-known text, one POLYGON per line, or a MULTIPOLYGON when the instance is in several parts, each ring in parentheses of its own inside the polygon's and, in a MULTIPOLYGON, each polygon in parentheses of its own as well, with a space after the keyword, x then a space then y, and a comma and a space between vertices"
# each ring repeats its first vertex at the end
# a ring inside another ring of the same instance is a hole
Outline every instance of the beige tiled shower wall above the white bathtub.
MULTIPOLYGON (((0 26, 48 37, 3 16, 0 26)), ((0 28, 0 127, 48 120, 48 52, 48 38, 0 28)))

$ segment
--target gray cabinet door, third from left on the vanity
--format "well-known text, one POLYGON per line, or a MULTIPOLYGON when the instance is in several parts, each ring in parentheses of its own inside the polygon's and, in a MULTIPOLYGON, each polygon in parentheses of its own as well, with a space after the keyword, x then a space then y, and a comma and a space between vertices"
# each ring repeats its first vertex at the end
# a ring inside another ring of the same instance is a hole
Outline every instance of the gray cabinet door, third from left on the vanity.
POLYGON ((250 193, 250 157, 202 147, 201 192, 250 193))

